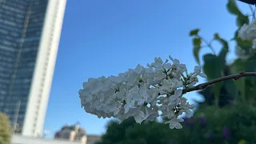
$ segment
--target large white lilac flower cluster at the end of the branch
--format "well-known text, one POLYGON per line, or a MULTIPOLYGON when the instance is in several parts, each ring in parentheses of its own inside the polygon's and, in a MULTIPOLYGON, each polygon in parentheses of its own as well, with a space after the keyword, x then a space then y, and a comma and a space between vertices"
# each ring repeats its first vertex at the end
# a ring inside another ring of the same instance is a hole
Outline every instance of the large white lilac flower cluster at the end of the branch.
POLYGON ((184 89, 194 86, 201 73, 200 66, 188 74, 186 65, 178 59, 154 58, 146 67, 138 65, 118 76, 89 78, 79 90, 82 107, 87 113, 98 115, 98 118, 118 118, 121 121, 134 117, 141 123, 144 120, 154 121, 158 116, 169 118, 170 128, 181 129, 182 118, 186 113, 192 116, 194 106, 182 97, 184 89), (162 114, 159 114, 159 111, 162 114))

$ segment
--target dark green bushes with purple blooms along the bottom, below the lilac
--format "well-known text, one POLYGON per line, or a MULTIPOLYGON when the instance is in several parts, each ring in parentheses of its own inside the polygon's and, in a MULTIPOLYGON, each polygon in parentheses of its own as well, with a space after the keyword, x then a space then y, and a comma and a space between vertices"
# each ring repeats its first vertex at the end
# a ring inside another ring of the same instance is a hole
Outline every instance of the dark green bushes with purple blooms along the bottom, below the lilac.
POLYGON ((133 118, 107 126, 102 142, 97 144, 237 144, 256 142, 256 107, 247 103, 230 106, 207 106, 195 112, 193 118, 182 122, 182 130, 170 130, 159 122, 134 122, 133 118))

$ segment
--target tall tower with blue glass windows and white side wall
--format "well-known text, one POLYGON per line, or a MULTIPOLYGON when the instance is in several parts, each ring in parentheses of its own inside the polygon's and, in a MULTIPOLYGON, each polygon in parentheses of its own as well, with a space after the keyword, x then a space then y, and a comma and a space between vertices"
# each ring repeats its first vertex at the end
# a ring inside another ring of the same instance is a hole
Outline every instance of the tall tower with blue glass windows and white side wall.
POLYGON ((66 0, 0 0, 0 112, 22 135, 44 126, 66 0))

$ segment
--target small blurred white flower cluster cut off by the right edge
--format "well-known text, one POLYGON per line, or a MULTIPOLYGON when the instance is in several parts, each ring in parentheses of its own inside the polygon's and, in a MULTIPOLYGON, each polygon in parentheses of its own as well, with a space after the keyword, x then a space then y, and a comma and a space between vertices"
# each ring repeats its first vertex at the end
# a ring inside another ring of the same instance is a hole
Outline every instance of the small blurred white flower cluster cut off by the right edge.
POLYGON ((256 48, 256 22, 251 22, 249 25, 244 24, 238 30, 238 37, 244 41, 253 41, 253 47, 256 48))

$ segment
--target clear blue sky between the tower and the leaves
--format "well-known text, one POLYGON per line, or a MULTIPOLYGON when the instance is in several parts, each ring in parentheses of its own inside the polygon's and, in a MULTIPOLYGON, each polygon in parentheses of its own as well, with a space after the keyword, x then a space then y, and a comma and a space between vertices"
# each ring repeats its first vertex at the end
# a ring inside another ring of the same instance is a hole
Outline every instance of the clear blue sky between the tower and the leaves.
MULTIPOLYGON (((184 2, 68 0, 46 114, 48 138, 66 123, 80 122, 88 134, 105 131, 109 119, 86 114, 80 106, 78 90, 88 78, 116 75, 169 54, 193 70, 191 29, 199 27, 206 39, 216 31, 223 38, 232 38, 235 19, 226 11, 226 1, 184 2)), ((201 55, 206 52, 209 50, 202 50, 201 55)), ((230 53, 233 58, 233 48, 230 53)))

